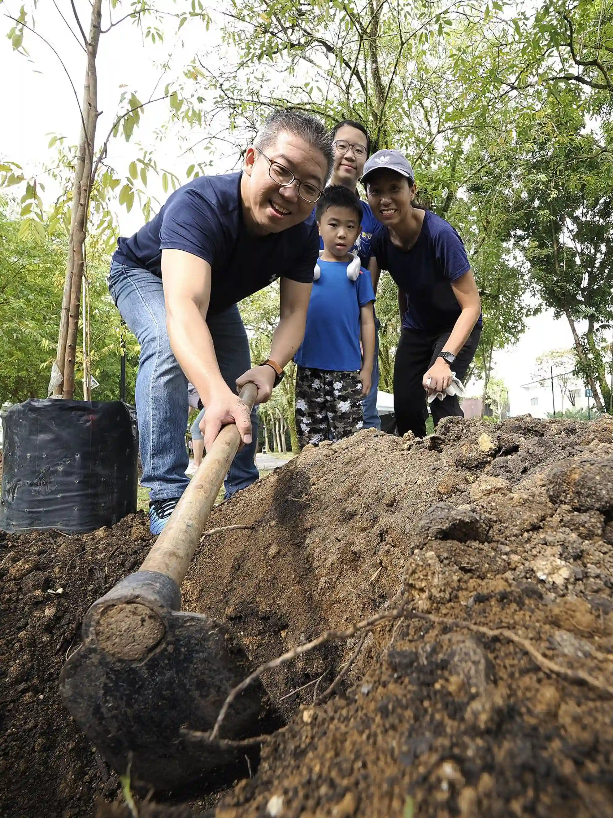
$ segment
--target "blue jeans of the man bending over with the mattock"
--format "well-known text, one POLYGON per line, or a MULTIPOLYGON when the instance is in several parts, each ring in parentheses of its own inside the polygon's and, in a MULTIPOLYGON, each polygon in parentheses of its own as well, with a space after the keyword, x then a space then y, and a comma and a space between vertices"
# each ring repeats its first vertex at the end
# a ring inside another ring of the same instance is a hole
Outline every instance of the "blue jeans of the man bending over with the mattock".
MULTIPOLYGON (((174 357, 166 332, 162 280, 141 267, 111 262, 109 290, 123 320, 141 344, 136 375, 136 416, 141 448, 141 485, 151 500, 181 497, 190 480, 185 471, 188 415, 187 379, 174 357)), ((239 308, 207 317, 221 376, 235 392, 236 379, 251 366, 249 344, 239 308)), ((226 475, 226 497, 259 477, 253 462, 257 446, 257 410, 251 413, 252 443, 235 456, 226 475)))

